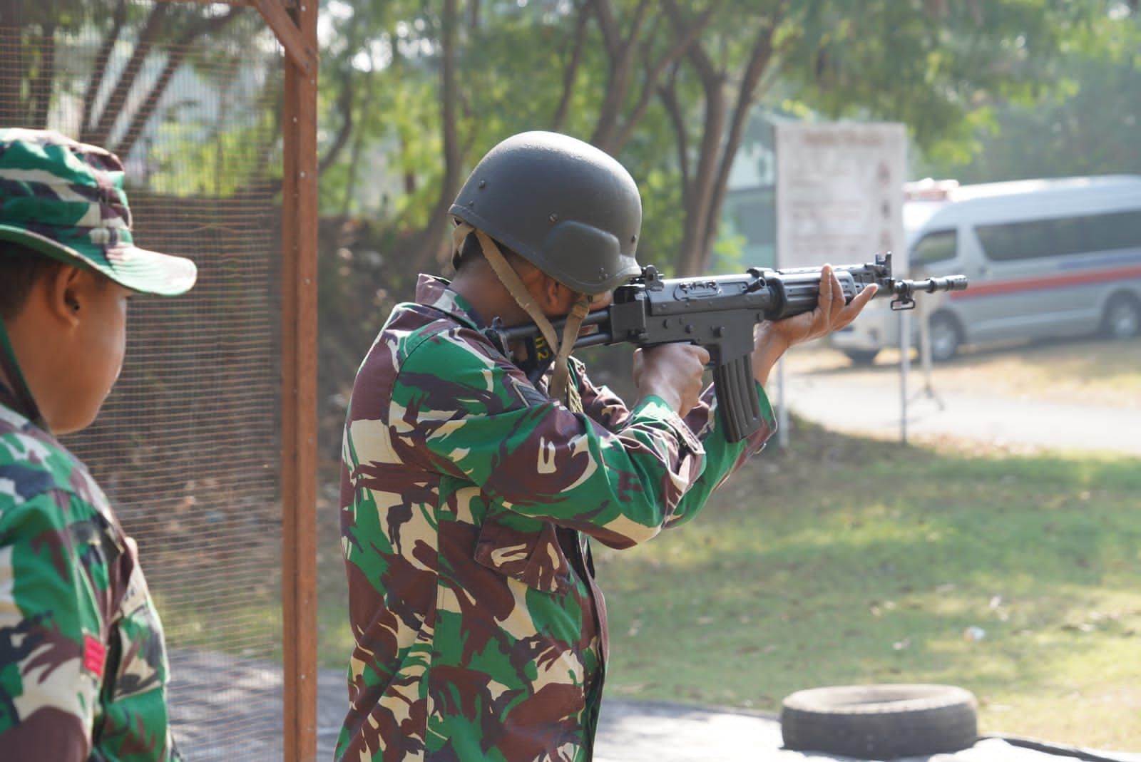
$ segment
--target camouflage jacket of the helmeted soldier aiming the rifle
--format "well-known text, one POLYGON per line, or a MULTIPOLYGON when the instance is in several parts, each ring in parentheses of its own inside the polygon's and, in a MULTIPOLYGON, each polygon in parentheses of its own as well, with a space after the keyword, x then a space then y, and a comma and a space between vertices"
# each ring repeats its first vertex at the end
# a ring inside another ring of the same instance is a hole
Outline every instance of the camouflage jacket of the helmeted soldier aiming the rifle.
MULTIPOLYGON (((362 364, 342 446, 341 535, 356 640, 337 759, 582 761, 606 614, 584 536, 612 548, 690 519, 769 424, 728 443, 574 378, 553 403, 421 276, 362 364)), ((541 382, 544 389, 545 383, 541 382)))

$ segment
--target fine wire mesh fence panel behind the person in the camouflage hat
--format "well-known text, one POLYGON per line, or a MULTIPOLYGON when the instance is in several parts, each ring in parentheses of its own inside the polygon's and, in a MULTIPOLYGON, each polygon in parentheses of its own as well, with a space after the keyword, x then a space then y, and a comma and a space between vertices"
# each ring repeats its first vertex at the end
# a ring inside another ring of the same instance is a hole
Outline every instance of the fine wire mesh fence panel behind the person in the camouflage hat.
POLYGON ((0 9, 0 124, 118 153, 136 242, 199 266, 132 300, 119 383, 64 444, 138 543, 184 755, 281 759, 281 49, 249 7, 39 5, 0 9))

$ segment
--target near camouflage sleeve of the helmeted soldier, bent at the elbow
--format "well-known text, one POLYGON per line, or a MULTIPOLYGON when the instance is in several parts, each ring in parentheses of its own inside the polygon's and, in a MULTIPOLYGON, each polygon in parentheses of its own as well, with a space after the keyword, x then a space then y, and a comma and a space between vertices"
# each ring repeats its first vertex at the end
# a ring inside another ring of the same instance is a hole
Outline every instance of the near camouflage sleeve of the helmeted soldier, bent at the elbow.
MULTIPOLYGON (((686 493, 705 451, 664 402, 615 411, 612 429, 540 394, 482 355, 463 332, 411 351, 393 394, 393 433, 509 510, 580 529, 615 548, 648 540, 701 508, 686 493)), ((590 402, 590 400, 586 400, 590 402)))

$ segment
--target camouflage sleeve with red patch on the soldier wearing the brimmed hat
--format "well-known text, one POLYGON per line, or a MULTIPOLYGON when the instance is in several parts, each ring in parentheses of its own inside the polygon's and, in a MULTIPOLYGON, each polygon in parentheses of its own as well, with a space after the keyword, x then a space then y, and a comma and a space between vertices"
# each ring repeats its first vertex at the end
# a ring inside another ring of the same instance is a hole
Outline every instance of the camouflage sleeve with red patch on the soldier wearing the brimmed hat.
POLYGON ((79 559, 121 552, 105 545, 103 522, 78 498, 50 491, 0 513, 0 748, 11 759, 82 762, 90 754, 106 581, 88 576, 79 559))

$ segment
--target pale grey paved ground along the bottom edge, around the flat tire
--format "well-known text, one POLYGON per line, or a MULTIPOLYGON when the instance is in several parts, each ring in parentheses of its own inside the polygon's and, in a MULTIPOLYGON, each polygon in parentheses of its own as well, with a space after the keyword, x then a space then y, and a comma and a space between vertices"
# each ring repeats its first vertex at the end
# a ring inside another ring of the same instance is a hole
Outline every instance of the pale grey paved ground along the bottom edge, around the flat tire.
MULTIPOLYGON (((194 650, 176 650, 170 660, 175 675, 171 720, 187 762, 282 760, 280 665, 194 650)), ((317 760, 330 762, 345 712, 342 671, 322 670, 317 675, 317 760)), ((771 714, 607 699, 602 704, 594 762, 850 760, 792 752, 783 749, 782 743, 780 723, 771 714)), ((1102 754, 1107 762, 1141 762, 1141 754, 1102 754)), ((989 738, 955 754, 898 762, 1073 762, 1074 759, 1060 751, 1034 751, 989 738)))

